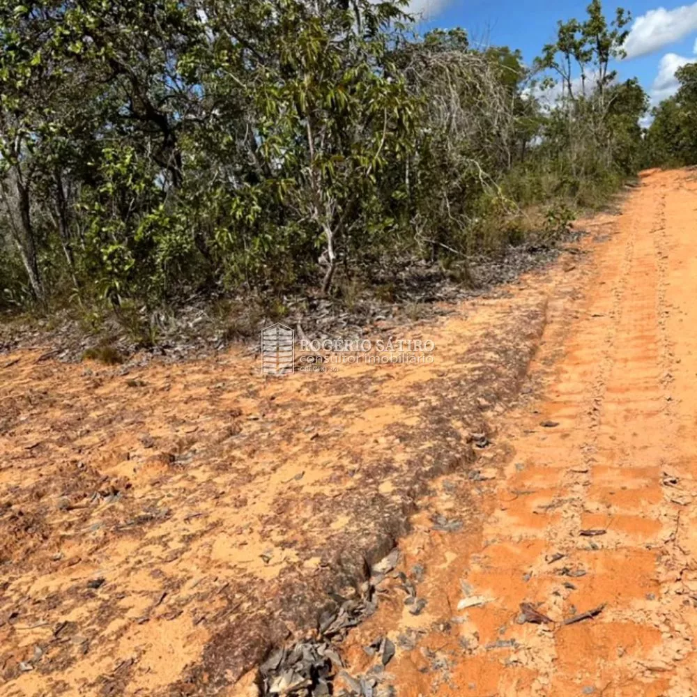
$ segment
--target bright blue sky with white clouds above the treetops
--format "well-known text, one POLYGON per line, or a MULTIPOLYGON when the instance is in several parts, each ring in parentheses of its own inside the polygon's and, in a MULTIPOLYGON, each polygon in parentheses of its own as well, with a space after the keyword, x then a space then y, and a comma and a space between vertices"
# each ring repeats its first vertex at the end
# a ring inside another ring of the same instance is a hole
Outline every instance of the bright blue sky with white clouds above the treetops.
MULTIPOLYGON (((553 40, 557 20, 582 20, 588 0, 411 0, 423 12, 420 31, 461 26, 470 38, 508 45, 523 52, 526 63, 553 40)), ((638 77, 655 104, 675 92, 675 69, 696 60, 697 2, 628 0, 620 3, 633 17, 627 40, 628 58, 616 68, 621 79, 638 77)), ((604 3, 608 17, 616 3, 604 3)))

